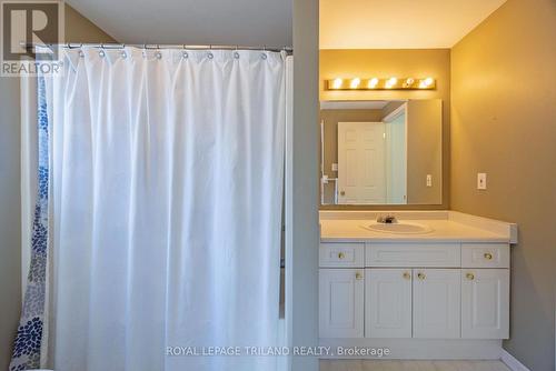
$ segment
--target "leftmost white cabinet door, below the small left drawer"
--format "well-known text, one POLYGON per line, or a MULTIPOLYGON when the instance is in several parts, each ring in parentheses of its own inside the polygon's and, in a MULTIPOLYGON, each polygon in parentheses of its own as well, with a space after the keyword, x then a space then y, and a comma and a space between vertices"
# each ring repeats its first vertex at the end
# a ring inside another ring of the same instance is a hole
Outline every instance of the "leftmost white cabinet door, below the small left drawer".
POLYGON ((319 270, 320 338, 363 338, 364 270, 319 270))

